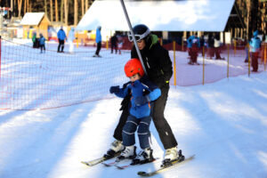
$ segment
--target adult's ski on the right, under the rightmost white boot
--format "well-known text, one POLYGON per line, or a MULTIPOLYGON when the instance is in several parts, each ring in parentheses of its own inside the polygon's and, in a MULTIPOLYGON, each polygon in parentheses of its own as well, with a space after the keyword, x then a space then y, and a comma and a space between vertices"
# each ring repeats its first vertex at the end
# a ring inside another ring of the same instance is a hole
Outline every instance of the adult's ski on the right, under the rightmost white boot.
POLYGON ((161 173, 163 171, 166 171, 167 168, 169 167, 173 167, 173 166, 178 166, 178 165, 181 165, 182 163, 185 163, 185 162, 188 162, 190 161, 191 159, 193 159, 195 157, 195 155, 192 155, 190 156, 189 158, 177 158, 175 160, 173 160, 172 162, 170 162, 170 164, 164 166, 160 166, 158 169, 156 169, 155 171, 152 171, 152 172, 143 172, 143 171, 140 171, 138 172, 137 174, 142 176, 142 177, 150 177, 154 174, 158 174, 158 173, 161 173))

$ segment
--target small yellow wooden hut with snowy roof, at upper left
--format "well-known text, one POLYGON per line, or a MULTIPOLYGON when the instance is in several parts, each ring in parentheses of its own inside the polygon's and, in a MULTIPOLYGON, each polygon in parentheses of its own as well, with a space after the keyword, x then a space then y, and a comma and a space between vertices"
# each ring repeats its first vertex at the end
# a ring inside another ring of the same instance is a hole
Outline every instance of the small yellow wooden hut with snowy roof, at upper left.
POLYGON ((36 32, 37 36, 42 33, 48 39, 48 26, 51 24, 44 12, 26 13, 20 24, 23 26, 23 37, 31 38, 32 33, 36 32))

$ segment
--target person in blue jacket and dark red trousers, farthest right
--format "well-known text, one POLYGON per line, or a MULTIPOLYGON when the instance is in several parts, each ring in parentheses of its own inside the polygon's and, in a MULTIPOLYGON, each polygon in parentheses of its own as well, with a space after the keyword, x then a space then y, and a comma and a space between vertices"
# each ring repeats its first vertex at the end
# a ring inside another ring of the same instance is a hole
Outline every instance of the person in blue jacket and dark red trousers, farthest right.
POLYGON ((258 56, 260 53, 260 49, 261 49, 261 39, 258 37, 258 30, 256 30, 253 33, 253 37, 251 38, 250 42, 249 42, 249 46, 250 46, 250 52, 251 52, 251 58, 252 58, 252 68, 254 72, 258 71, 258 56))

